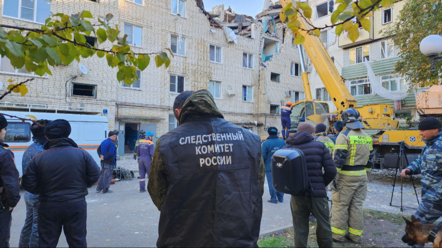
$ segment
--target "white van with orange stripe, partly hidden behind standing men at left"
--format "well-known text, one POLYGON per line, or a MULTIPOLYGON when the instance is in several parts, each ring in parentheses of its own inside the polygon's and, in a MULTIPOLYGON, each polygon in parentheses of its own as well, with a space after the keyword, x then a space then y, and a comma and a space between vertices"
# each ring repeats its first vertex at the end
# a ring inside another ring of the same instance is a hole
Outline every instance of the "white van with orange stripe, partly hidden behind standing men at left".
MULTIPOLYGON (((107 138, 108 126, 105 116, 92 115, 71 115, 63 113, 41 113, 41 112, 19 112, 19 111, 0 111, 7 115, 26 118, 27 115, 34 116, 38 120, 57 120, 64 119, 70 123, 72 131, 69 138, 77 143, 78 147, 85 149, 94 158, 97 164, 100 164, 100 158, 97 154, 97 148, 103 140, 107 138)), ((4 143, 8 144, 15 156, 15 164, 19 170, 20 177, 23 175, 22 159, 23 154, 29 145, 33 143, 30 121, 6 117, 8 127, 4 143)))

